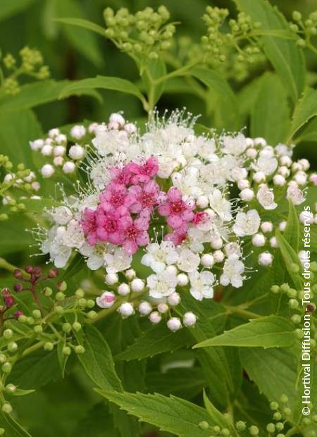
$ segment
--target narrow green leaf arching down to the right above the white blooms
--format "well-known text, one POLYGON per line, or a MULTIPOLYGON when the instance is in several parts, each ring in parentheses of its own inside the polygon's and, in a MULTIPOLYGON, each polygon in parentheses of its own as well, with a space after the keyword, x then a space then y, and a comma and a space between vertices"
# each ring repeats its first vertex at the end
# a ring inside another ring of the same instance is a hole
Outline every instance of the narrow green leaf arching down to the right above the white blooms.
POLYGON ((223 128, 234 130, 239 125, 237 99, 228 82, 220 74, 206 68, 192 68, 189 74, 204 83, 216 96, 223 101, 223 128), (228 109, 230 108, 230 111, 228 109))

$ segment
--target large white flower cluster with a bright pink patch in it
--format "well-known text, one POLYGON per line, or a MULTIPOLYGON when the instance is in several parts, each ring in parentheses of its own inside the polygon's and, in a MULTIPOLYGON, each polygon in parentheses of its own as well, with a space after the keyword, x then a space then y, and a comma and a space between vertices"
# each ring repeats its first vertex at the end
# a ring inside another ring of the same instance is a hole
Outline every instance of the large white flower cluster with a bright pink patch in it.
POLYGON ((142 135, 120 114, 94 125, 92 149, 78 159, 89 183, 64 194, 47 211, 51 228, 37 232, 56 266, 77 251, 89 269, 106 270, 99 307, 123 317, 137 309, 154 324, 166 318, 171 331, 196 321, 191 312, 181 321, 182 293, 201 301, 219 284, 242 286, 250 242, 263 250, 259 264, 272 264, 277 241, 267 235, 285 222, 266 214, 281 199, 301 204, 316 179, 308 161, 292 161, 292 147, 242 133, 196 135, 194 122, 175 111, 155 114, 142 135))

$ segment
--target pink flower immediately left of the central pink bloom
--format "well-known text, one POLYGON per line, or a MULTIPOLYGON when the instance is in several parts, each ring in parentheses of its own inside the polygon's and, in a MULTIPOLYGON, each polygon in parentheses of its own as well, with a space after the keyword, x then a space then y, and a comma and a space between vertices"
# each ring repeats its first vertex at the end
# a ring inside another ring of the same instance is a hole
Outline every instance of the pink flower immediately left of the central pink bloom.
POLYGON ((128 193, 125 185, 111 182, 106 186, 106 190, 101 192, 99 200, 104 211, 113 211, 119 207, 126 208, 128 211, 136 199, 134 195, 128 193))

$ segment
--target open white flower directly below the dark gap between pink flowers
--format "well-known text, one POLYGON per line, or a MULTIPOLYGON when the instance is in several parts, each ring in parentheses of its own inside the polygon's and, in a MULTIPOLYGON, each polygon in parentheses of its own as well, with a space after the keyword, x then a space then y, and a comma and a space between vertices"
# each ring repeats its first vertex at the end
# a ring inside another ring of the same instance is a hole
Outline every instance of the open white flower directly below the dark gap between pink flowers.
POLYGON ((154 242, 146 247, 147 253, 143 255, 141 263, 151 267, 155 273, 160 273, 166 266, 175 264, 178 261, 178 252, 173 242, 162 241, 161 244, 154 242))

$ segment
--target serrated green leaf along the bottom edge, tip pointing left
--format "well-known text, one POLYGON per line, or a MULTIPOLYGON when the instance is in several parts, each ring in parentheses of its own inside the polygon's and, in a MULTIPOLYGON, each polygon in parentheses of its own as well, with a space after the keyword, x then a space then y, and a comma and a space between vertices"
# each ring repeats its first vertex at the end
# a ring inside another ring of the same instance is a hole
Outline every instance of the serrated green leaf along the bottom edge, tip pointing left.
POLYGON ((175 396, 143 395, 142 393, 114 393, 97 390, 104 398, 119 405, 141 421, 158 426, 162 431, 180 437, 209 437, 210 430, 201 429, 199 423, 207 421, 213 425, 204 408, 175 396))

